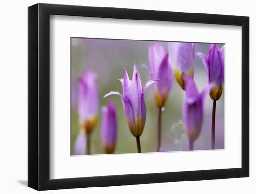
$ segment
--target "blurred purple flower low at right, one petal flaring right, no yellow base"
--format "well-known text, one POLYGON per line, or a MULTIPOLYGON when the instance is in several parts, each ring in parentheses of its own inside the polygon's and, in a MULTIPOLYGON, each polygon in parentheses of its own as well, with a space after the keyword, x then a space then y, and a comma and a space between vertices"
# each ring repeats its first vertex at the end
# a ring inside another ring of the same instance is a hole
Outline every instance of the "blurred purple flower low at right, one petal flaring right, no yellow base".
POLYGON ((186 99, 183 105, 183 124, 189 138, 189 150, 193 150, 193 142, 202 129, 204 99, 212 88, 212 84, 205 87, 202 93, 199 94, 194 80, 187 76, 184 79, 186 99))

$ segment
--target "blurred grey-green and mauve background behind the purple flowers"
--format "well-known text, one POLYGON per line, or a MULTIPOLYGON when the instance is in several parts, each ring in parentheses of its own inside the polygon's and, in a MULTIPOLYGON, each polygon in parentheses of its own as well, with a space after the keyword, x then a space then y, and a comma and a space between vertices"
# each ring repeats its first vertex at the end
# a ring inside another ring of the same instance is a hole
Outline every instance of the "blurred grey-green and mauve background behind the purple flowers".
MULTIPOLYGON (((142 64, 148 65, 148 46, 155 41, 142 40, 112 40, 71 38, 71 155, 74 155, 75 140, 80 132, 77 114, 78 79, 85 69, 93 70, 98 74, 100 107, 106 106, 113 100, 117 107, 117 144, 114 154, 136 153, 136 139, 131 134, 123 112, 119 96, 103 96, 110 91, 119 91, 122 86, 117 79, 123 78, 125 67, 130 78, 132 77, 134 61, 139 68, 143 84, 150 80, 148 71, 142 64)), ((168 42, 162 42, 168 51, 168 42)), ((222 44, 218 44, 219 48, 222 44)), ((195 43, 195 53, 208 54, 208 43, 195 43)), ((202 60, 195 55, 194 80, 201 92, 208 85, 208 77, 202 60)), ((216 103, 215 148, 224 149, 224 91, 216 103)), ((164 151, 188 150, 189 144, 182 124, 182 107, 185 92, 179 87, 176 80, 165 103, 162 112, 162 148, 164 151)), ((145 95, 147 118, 141 135, 141 151, 155 152, 157 145, 157 111, 153 99, 152 88, 149 87, 145 95)), ((204 122, 202 133, 194 143, 194 150, 211 149, 211 114, 213 101, 207 95, 204 107, 204 122)), ((104 154, 101 146, 101 108, 99 108, 98 122, 91 134, 91 154, 104 154)))

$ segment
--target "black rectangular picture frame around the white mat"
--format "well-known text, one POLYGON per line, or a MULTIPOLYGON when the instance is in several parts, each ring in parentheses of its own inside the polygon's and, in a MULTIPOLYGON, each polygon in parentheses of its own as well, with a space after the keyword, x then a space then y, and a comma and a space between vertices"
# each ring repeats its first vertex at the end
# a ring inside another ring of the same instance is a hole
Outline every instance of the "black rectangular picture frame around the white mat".
POLYGON ((249 176, 249 17, 36 4, 28 7, 28 187, 37 190, 196 181, 249 176), (50 15, 175 21, 242 27, 241 168, 50 179, 50 15))

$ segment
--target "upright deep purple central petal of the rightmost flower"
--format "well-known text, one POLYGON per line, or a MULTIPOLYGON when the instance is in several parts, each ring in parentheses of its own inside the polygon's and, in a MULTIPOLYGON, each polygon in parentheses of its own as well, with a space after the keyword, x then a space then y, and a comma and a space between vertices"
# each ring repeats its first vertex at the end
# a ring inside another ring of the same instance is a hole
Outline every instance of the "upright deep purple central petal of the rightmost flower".
POLYGON ((209 82, 214 82, 217 87, 222 85, 222 60, 219 48, 216 44, 211 46, 209 50, 209 82))

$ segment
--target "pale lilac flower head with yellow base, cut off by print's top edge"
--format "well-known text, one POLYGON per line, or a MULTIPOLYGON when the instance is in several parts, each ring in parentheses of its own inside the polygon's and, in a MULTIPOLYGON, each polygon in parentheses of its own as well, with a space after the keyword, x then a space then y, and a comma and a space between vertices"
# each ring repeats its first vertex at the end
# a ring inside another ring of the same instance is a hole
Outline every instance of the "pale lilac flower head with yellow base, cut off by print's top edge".
POLYGON ((184 76, 194 76, 194 43, 170 42, 168 50, 175 79, 184 90, 184 76))

